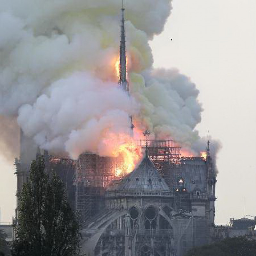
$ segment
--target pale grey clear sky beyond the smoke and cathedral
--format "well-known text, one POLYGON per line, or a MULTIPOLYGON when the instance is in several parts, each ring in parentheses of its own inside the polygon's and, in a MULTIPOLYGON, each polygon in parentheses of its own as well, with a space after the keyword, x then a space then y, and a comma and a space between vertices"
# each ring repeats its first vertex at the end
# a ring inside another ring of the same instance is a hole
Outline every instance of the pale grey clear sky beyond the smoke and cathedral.
MULTIPOLYGON (((200 90, 197 129, 221 141, 216 223, 256 215, 256 1, 173 0, 164 32, 151 43, 155 67, 177 67, 200 90), (170 38, 173 38, 171 42, 170 38)), ((1 221, 15 208, 14 166, 0 156, 1 221)))

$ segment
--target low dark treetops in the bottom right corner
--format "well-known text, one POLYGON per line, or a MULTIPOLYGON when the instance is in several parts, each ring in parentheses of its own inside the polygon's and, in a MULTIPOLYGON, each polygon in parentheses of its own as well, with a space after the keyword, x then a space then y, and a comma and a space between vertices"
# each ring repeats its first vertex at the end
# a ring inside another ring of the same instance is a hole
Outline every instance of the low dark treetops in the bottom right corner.
POLYGON ((214 244, 196 247, 185 256, 255 256, 256 241, 246 237, 226 238, 214 244))

